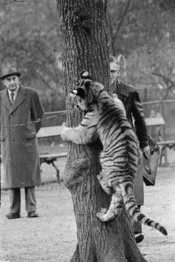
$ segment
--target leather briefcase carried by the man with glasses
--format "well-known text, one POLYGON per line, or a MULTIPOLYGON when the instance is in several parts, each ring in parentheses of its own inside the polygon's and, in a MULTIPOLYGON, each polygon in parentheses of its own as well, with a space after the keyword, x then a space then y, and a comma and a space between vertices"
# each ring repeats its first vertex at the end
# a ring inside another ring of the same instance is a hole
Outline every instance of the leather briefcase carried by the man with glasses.
POLYGON ((149 136, 148 145, 150 147, 151 156, 149 159, 146 159, 144 154, 142 155, 141 173, 145 185, 155 185, 160 148, 151 136, 149 136))

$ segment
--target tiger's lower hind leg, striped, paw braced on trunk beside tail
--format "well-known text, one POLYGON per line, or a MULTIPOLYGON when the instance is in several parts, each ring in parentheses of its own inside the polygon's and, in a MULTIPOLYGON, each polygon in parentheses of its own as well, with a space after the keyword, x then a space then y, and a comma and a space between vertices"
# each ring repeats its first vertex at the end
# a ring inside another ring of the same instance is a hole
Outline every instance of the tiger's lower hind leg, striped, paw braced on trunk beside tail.
POLYGON ((101 212, 97 213, 97 217, 103 222, 111 222, 120 215, 123 206, 121 189, 115 186, 115 192, 112 195, 112 200, 109 209, 102 208, 101 212))

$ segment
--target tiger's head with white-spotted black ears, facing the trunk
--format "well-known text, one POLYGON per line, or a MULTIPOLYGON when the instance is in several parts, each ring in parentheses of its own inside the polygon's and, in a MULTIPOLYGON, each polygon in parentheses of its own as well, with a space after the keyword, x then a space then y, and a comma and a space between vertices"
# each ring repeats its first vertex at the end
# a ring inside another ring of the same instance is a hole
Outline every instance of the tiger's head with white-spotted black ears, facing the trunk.
POLYGON ((82 110, 90 111, 97 104, 99 93, 104 90, 104 86, 90 79, 87 70, 81 72, 81 80, 78 81, 76 89, 71 94, 77 97, 78 105, 82 110))

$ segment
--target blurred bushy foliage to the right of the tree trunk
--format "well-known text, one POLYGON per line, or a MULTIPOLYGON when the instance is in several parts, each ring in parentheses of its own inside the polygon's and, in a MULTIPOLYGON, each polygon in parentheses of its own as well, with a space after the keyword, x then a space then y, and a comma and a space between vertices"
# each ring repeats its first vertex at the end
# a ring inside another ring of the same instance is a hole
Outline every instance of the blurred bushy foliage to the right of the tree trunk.
POLYGON ((129 84, 157 91, 151 100, 175 98, 174 12, 174 0, 108 1, 111 54, 125 56, 129 84))

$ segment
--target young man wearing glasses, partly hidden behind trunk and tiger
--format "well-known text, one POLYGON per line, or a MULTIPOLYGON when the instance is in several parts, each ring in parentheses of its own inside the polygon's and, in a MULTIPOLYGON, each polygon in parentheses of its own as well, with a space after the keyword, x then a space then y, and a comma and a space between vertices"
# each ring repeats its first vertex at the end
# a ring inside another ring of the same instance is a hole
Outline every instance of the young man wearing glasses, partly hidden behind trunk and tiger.
MULTIPOLYGON (((129 123, 132 126, 132 129, 135 131, 138 138, 138 151, 139 148, 148 159, 150 157, 150 148, 148 145, 148 132, 146 128, 145 117, 143 114, 143 109, 140 103, 139 93, 137 89, 133 86, 125 84, 120 81, 117 77, 119 75, 120 69, 118 61, 114 56, 109 56, 110 62, 110 79, 111 79, 111 89, 113 94, 117 94, 118 98, 123 102, 126 117, 129 123), (133 118, 134 123, 133 123, 133 118)), ((134 196, 136 204, 139 209, 141 205, 144 204, 143 196, 143 177, 141 176, 141 157, 138 152, 139 162, 137 167, 137 175, 134 181, 134 196)), ((131 219, 131 224, 134 230, 134 235, 136 243, 139 243, 143 240, 144 236, 142 234, 141 223, 135 222, 131 219)))

